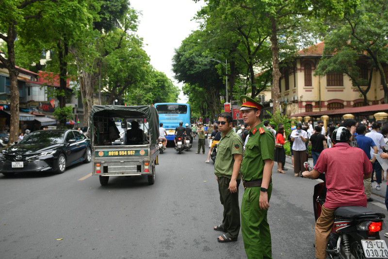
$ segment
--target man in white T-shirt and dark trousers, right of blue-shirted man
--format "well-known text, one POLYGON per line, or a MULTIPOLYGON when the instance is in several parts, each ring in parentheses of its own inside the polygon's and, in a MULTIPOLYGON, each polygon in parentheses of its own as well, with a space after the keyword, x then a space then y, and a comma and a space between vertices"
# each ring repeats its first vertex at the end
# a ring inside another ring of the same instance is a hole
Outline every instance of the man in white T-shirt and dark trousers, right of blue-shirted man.
MULTIPOLYGON (((383 153, 383 147, 385 146, 385 142, 384 142, 384 136, 383 134, 379 133, 380 131, 380 124, 377 123, 377 122, 373 122, 372 123, 372 131, 365 134, 366 137, 369 137, 369 138, 372 138, 373 139, 373 142, 376 144, 377 146, 377 149, 378 149, 378 154, 381 154, 383 153)), ((371 148, 371 157, 373 156, 373 149, 371 148)), ((380 163, 376 160, 373 164, 373 172, 372 172, 372 180, 371 182, 373 182, 373 173, 376 173, 376 185, 374 186, 374 188, 376 188, 376 190, 381 190, 381 187, 380 187, 380 184, 381 184, 381 171, 383 170, 381 168, 381 165, 380 163)))

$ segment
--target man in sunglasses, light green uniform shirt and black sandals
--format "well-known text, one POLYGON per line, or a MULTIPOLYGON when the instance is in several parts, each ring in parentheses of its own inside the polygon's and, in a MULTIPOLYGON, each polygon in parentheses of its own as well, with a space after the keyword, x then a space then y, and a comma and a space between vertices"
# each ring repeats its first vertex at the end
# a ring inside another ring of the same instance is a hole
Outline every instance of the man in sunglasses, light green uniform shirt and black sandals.
POLYGON ((236 241, 241 226, 238 188, 241 182, 243 147, 241 138, 232 130, 232 121, 231 114, 223 112, 216 122, 222 136, 217 146, 214 174, 218 182, 220 201, 224 206, 224 219, 222 224, 214 227, 214 230, 226 232, 218 237, 219 242, 236 241))

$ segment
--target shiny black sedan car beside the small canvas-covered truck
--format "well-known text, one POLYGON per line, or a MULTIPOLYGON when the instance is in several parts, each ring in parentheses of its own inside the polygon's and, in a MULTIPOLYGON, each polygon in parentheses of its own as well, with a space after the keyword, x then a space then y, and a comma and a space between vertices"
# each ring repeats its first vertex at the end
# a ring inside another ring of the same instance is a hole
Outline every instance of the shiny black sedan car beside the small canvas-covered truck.
POLYGON ((39 130, 0 152, 0 173, 65 172, 66 166, 90 163, 90 139, 77 130, 39 130))

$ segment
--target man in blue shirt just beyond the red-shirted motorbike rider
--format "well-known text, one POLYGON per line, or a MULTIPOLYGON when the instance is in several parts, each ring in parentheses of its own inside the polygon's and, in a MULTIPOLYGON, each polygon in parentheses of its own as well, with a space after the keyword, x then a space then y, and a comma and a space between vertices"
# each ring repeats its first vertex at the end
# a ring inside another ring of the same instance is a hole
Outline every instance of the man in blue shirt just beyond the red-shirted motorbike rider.
MULTIPOLYGON (((373 139, 365 136, 366 131, 367 131, 366 126, 364 126, 362 124, 357 126, 356 127, 356 133, 357 133, 356 141, 357 141, 358 147, 360 149, 364 150, 365 154, 369 158, 369 161, 371 161, 371 163, 373 165, 374 161, 376 161, 376 157, 373 155, 373 157, 371 159, 370 151, 372 148, 374 151, 373 153, 377 154, 378 149, 377 149, 376 144, 374 143, 373 139)), ((371 198, 371 194, 372 194, 371 178, 364 179, 364 188, 365 188, 365 194, 367 195, 367 201, 372 202, 373 199, 371 198)))

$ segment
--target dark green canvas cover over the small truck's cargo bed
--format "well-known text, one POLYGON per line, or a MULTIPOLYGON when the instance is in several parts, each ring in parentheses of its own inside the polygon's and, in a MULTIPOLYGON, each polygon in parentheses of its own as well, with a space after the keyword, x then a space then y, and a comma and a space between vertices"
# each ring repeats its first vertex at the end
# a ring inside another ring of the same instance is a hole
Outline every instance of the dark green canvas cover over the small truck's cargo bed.
POLYGON ((93 136, 93 118, 102 116, 108 118, 146 117, 148 120, 151 144, 156 145, 159 138, 159 115, 152 105, 123 106, 123 105, 93 105, 90 112, 90 136, 93 136))

